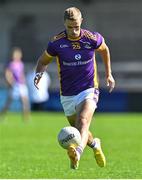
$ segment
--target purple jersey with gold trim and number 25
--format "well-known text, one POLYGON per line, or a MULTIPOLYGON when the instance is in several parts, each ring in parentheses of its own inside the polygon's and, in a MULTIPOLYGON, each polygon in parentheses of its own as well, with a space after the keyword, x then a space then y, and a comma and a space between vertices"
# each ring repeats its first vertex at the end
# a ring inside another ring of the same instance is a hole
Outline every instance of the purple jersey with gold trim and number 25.
POLYGON ((63 31, 49 42, 47 53, 57 58, 61 95, 72 96, 98 87, 95 49, 102 41, 99 33, 81 29, 76 40, 69 39, 63 31))

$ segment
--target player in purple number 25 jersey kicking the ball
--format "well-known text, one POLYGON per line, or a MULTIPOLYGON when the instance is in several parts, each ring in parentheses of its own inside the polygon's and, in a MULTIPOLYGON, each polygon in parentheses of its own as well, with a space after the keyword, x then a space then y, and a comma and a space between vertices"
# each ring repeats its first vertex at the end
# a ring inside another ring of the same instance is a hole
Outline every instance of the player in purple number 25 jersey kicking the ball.
POLYGON ((82 20, 78 8, 70 7, 65 10, 65 30, 48 43, 47 49, 38 59, 34 79, 34 84, 38 88, 42 74, 52 58, 56 57, 61 104, 70 125, 76 127, 81 134, 81 144, 78 147, 70 146, 67 151, 72 169, 78 168, 86 145, 93 149, 97 164, 100 167, 106 165, 100 139, 94 138, 89 131, 99 98, 96 51, 100 53, 105 65, 109 92, 115 87, 109 48, 101 34, 81 28, 82 20))

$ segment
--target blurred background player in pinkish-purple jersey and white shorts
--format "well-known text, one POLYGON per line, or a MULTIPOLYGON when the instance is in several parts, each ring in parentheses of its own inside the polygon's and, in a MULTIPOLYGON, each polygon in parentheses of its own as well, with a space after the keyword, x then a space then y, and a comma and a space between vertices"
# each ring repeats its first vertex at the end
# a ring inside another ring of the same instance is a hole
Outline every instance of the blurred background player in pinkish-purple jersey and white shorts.
POLYGON ((5 69, 5 78, 8 83, 8 96, 0 113, 4 118, 12 100, 20 99, 22 103, 23 120, 29 120, 29 99, 26 85, 24 64, 22 62, 22 50, 18 47, 12 49, 12 58, 5 69))

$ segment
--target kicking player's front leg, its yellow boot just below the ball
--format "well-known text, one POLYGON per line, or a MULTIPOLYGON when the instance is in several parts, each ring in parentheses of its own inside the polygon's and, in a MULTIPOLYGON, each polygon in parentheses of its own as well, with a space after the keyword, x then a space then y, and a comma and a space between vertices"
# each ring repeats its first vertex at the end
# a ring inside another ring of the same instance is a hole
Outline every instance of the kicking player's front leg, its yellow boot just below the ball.
POLYGON ((76 127, 81 134, 81 144, 78 147, 70 146, 68 149, 68 155, 74 169, 77 169, 83 149, 88 142, 88 131, 94 112, 88 100, 85 100, 81 104, 81 109, 77 108, 77 114, 67 117, 70 124, 76 127))

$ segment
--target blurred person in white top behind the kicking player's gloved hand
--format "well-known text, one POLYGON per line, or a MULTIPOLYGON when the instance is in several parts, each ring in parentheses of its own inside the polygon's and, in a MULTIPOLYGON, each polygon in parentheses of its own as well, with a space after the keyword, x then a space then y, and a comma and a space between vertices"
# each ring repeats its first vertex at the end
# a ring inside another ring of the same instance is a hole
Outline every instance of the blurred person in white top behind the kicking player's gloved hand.
POLYGON ((50 76, 47 72, 44 72, 43 78, 41 79, 39 86, 37 89, 34 86, 34 77, 35 70, 33 69, 31 72, 27 74, 27 83, 29 89, 29 96, 31 102, 31 110, 32 111, 46 111, 47 103, 49 99, 49 86, 50 86, 50 76))

